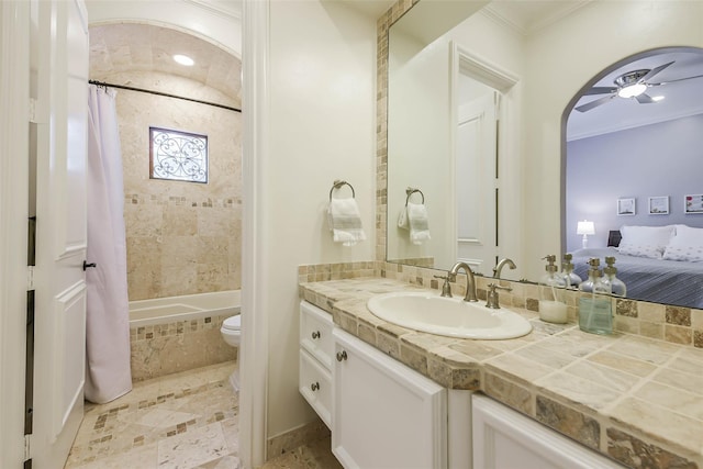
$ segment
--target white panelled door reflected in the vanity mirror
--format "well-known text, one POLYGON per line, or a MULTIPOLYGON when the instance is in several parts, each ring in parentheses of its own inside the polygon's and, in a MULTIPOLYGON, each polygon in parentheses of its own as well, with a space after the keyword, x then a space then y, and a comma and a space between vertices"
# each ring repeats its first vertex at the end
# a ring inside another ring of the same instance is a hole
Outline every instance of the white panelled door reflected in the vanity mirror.
POLYGON ((496 248, 498 91, 458 109, 457 258, 490 275, 496 248))

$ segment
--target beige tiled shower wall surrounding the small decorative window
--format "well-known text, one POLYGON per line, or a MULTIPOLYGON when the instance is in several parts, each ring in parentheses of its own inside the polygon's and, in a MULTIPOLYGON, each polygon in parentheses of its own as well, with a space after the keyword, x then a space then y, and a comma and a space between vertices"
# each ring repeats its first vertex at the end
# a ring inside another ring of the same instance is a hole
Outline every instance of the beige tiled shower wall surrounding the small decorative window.
MULTIPOLYGON (((227 103, 185 78, 131 72, 107 80, 227 103)), ((174 98, 118 90, 130 300, 241 287, 242 115, 174 98), (208 136, 209 182, 149 179, 149 126, 208 136)), ((236 107, 236 104, 234 105, 236 107)))

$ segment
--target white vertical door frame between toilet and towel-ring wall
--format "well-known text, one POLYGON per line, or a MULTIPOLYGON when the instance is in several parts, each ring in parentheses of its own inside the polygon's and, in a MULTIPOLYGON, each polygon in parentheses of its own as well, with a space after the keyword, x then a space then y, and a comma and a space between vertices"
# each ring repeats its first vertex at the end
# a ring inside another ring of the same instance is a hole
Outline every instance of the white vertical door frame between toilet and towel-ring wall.
POLYGON ((244 468, 266 461, 268 414, 268 254, 258 208, 266 202, 268 160, 269 2, 244 0, 242 21, 242 346, 239 348, 239 447, 244 468), (242 432, 244 429, 244 432, 242 432))

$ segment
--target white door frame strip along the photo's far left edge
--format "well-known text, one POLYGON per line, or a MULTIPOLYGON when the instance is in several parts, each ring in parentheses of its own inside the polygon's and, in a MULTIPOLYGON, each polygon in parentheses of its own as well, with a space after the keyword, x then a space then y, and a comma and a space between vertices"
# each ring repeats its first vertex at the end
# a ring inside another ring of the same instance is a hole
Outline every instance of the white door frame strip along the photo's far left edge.
POLYGON ((24 461, 30 2, 0 2, 0 107, 4 110, 0 114, 0 467, 20 468, 24 461))

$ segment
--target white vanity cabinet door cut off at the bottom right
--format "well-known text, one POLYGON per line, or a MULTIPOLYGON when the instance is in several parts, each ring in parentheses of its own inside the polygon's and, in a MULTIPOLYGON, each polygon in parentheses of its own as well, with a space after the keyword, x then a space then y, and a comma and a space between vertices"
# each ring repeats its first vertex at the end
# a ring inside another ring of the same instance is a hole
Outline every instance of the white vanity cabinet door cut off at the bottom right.
POLYGON ((473 394, 475 469, 610 469, 615 461, 486 395, 473 394))

